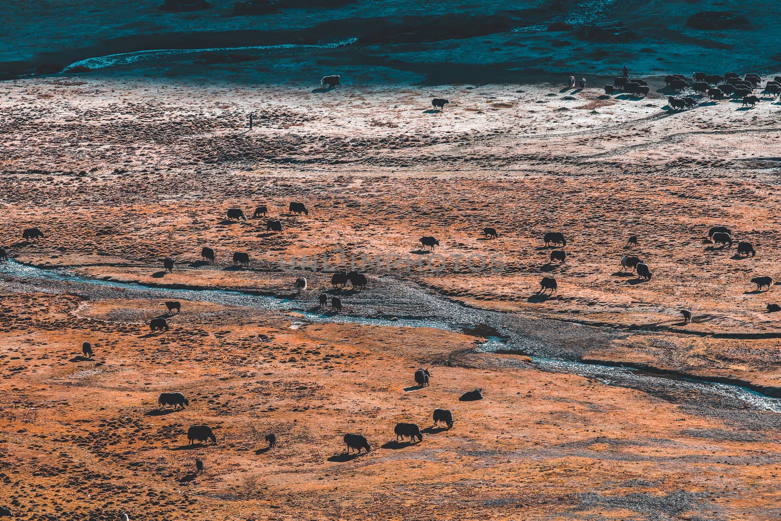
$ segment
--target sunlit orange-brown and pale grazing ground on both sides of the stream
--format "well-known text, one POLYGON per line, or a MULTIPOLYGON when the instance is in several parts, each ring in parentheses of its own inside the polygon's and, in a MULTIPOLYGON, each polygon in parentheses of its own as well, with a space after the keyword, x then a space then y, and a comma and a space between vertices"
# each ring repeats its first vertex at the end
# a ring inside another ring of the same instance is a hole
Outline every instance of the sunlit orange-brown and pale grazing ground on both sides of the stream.
MULTIPOLYGON (((554 84, 323 92, 9 81, 0 244, 17 262, 86 277, 288 297, 301 271, 280 271, 280 255, 409 255, 423 268, 368 270, 366 294, 380 302, 372 313, 426 316, 396 304, 393 289, 424 287, 554 319, 540 322, 551 330, 597 326, 588 343, 551 340, 558 353, 778 389, 781 335, 765 312, 777 290, 749 280, 781 277, 781 105, 701 99, 672 112, 663 82, 650 84, 648 98, 629 99, 554 84), (433 96, 451 103, 430 110, 433 96), (287 212, 291 201, 308 215, 287 212), (226 219, 228 208, 251 216, 257 205, 282 233, 268 233, 265 218, 226 219), (757 255, 711 248, 715 224, 757 255), (483 237, 486 226, 499 236, 483 237), (45 237, 23 241, 28 227, 45 237), (563 263, 542 244, 552 230, 568 239, 563 263), (423 235, 440 240, 442 269, 426 269, 423 235), (203 246, 215 265, 200 262, 203 246), (237 251, 251 255, 249 268, 233 266, 237 251), (646 260, 650 281, 619 270, 629 253, 646 260), (469 255, 494 255, 496 266, 455 265, 469 255), (543 276, 558 280, 558 294, 537 294, 543 276), (683 306, 693 323, 683 325, 683 306)), ((296 298, 314 306, 330 283, 306 277, 310 290, 296 298)), ((778 515, 773 412, 543 372, 457 332, 309 323, 198 299, 183 302, 171 330, 149 335, 158 300, 2 279, 0 498, 20 519, 116 519, 120 509, 131 519, 778 515), (95 359, 77 356, 84 340, 95 359), (432 385, 410 389, 418 366, 430 367, 432 385), (458 401, 475 387, 483 401, 458 401), (157 412, 159 392, 174 390, 191 406, 157 412), (453 410, 452 430, 392 443, 396 422, 429 427, 434 407, 453 410), (187 448, 194 423, 216 427, 217 444, 187 448), (268 432, 279 445, 264 450, 268 432), (365 434, 373 451, 344 455, 345 432, 365 434)), ((361 295, 344 292, 348 314, 369 309, 361 295)))

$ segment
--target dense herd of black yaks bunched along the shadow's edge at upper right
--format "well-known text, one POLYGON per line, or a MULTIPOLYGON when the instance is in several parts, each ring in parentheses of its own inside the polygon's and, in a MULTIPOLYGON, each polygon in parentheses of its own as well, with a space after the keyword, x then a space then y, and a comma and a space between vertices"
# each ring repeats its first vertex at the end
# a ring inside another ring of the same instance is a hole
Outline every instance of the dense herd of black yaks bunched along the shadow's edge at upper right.
MULTIPOLYGON (((760 98, 754 95, 754 91, 762 82, 758 74, 747 73, 740 77, 737 73, 706 74, 694 73, 690 78, 683 74, 671 74, 665 77, 665 84, 673 91, 685 93, 691 90, 695 95, 707 95, 714 100, 732 97, 742 100, 743 106, 754 106, 760 98)), ((634 96, 645 96, 650 91, 648 84, 641 78, 615 77, 613 84, 604 86, 606 95, 613 95, 623 91, 634 96)), ((781 76, 768 80, 761 94, 779 96, 781 98, 781 76)), ((672 110, 690 109, 697 106, 697 100, 690 96, 669 96, 667 102, 672 110)))

